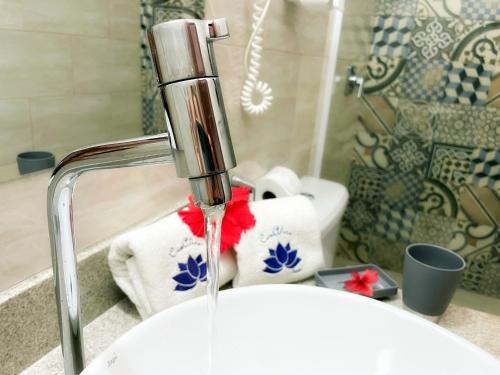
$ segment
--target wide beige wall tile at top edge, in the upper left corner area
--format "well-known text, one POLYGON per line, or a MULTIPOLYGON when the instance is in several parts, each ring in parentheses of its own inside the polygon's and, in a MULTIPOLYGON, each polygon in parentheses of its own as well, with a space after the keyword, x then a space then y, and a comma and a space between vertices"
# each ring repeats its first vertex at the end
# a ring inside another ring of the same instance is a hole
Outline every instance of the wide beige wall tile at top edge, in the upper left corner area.
POLYGON ((103 0, 18 0, 24 29, 81 35, 108 34, 108 2, 103 0))

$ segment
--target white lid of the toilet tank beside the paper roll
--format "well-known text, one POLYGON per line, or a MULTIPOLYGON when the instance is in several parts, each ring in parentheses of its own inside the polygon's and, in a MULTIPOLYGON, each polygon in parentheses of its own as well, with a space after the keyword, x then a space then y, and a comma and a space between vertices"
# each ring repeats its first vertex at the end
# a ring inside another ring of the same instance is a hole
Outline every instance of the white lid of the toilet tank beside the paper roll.
POLYGON ((318 214, 321 232, 329 231, 342 217, 347 206, 349 193, 338 182, 311 176, 301 179, 302 193, 309 196, 318 214))

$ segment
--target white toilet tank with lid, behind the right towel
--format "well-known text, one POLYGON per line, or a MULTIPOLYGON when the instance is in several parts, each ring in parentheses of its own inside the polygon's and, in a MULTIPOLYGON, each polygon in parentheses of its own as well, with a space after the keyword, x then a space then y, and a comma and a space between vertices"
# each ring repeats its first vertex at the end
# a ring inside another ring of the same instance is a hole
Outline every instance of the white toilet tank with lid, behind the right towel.
POLYGON ((311 199, 321 229, 323 256, 327 267, 333 265, 342 215, 347 207, 349 193, 337 182, 304 176, 301 193, 311 199))

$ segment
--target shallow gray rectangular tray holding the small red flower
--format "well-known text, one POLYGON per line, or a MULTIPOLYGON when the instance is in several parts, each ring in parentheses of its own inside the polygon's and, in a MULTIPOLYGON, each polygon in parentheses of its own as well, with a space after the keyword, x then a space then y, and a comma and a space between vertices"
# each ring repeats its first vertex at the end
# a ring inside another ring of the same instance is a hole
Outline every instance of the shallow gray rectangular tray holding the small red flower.
POLYGON ((351 278, 351 272, 357 271, 361 273, 367 269, 375 270, 378 273, 378 282, 373 285, 373 298, 390 297, 398 292, 398 284, 375 264, 360 264, 320 270, 314 275, 314 281, 318 286, 345 291, 344 282, 351 278))

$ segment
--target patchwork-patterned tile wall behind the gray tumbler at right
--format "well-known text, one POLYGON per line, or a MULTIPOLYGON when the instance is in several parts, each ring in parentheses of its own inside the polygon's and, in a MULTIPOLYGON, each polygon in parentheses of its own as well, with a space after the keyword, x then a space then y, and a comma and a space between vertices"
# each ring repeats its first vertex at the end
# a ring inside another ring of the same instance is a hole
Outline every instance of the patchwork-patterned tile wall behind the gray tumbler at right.
POLYGON ((500 0, 378 0, 339 252, 432 242, 500 298, 500 0))

